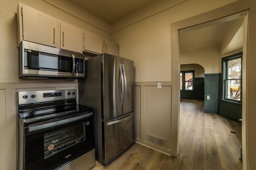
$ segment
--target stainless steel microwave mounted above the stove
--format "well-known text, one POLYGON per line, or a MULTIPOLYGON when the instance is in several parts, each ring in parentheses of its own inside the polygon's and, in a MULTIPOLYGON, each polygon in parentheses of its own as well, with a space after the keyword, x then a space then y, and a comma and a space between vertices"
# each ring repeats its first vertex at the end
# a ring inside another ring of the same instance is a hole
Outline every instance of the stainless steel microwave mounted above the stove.
POLYGON ((21 41, 19 77, 43 79, 84 78, 85 55, 46 45, 21 41))

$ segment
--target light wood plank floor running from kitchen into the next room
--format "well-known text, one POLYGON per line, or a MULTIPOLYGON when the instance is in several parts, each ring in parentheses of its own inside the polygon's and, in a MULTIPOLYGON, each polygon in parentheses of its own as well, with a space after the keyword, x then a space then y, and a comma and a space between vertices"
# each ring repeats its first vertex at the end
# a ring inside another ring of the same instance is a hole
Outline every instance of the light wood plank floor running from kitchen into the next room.
POLYGON ((218 114, 203 113, 204 102, 180 102, 180 153, 177 158, 135 143, 107 167, 92 170, 242 170, 242 127, 218 114), (230 133, 236 131, 237 134, 230 133))

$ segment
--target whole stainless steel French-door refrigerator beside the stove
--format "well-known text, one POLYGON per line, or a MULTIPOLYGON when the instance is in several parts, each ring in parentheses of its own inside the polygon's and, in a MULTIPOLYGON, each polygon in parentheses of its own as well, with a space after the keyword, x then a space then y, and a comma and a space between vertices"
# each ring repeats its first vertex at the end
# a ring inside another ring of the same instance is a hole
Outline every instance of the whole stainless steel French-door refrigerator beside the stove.
POLYGON ((79 103, 94 108, 95 154, 104 166, 134 143, 133 61, 103 53, 85 61, 79 103))

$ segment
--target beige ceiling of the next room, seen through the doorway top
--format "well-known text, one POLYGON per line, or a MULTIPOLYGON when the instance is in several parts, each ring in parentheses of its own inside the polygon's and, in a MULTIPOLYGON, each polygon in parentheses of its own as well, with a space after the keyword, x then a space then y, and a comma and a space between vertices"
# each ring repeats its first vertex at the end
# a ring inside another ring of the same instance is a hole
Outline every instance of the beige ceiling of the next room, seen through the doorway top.
POLYGON ((242 48, 243 18, 180 33, 180 51, 192 51, 211 46, 222 47, 229 39, 222 53, 242 48), (229 36, 229 37, 227 37, 229 36))

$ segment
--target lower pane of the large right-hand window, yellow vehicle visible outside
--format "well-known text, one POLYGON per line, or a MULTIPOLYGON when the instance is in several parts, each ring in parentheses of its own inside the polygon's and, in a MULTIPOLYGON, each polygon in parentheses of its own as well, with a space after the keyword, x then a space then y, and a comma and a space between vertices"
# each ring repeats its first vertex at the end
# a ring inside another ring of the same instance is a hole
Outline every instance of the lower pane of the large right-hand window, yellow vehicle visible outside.
POLYGON ((241 85, 240 79, 226 81, 226 99, 240 101, 241 85))

